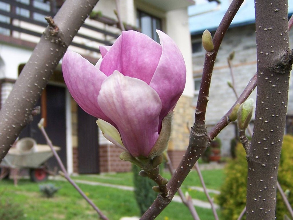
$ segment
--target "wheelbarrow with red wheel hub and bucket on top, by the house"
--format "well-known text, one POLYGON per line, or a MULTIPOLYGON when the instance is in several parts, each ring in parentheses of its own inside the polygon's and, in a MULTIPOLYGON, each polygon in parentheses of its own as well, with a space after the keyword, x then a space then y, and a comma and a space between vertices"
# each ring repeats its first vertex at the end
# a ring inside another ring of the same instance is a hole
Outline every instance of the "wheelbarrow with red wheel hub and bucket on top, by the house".
MULTIPOLYGON (((60 148, 54 146, 56 151, 60 148)), ((12 147, 7 155, 3 158, 0 163, 0 176, 2 178, 8 173, 4 173, 3 170, 11 170, 17 172, 19 169, 27 168, 29 169, 30 179, 33 182, 42 182, 47 180, 50 172, 45 162, 53 156, 50 146, 37 144, 32 138, 23 138, 19 140, 15 147, 12 147), (3 169, 4 168, 4 169, 3 169), (2 174, 1 174, 2 173, 2 174)), ((14 173, 15 175, 15 173, 14 173)), ((14 178, 16 183, 16 179, 14 178)))

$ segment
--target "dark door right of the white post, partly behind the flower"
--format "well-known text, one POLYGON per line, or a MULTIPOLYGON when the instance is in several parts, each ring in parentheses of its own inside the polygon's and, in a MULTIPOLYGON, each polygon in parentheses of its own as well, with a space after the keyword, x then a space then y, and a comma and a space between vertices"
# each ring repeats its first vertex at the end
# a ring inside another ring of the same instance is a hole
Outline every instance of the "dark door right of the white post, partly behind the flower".
POLYGON ((78 172, 99 173, 98 126, 96 118, 80 107, 78 117, 78 172))

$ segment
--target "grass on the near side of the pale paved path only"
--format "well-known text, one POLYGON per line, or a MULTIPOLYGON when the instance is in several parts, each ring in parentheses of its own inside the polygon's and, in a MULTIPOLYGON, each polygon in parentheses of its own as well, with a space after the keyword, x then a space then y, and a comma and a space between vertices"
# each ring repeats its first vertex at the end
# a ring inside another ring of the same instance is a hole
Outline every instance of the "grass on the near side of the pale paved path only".
MULTIPOLYGON (((23 220, 80 220, 97 219, 96 212, 67 182, 48 181, 57 187, 62 187, 54 197, 43 197, 39 192, 39 185, 29 180, 20 180, 18 186, 12 180, 0 181, 0 200, 8 199, 23 207, 23 220)), ((139 216, 138 207, 133 192, 118 190, 110 187, 79 184, 81 189, 111 220, 118 220, 122 216, 139 216)), ((197 208, 203 220, 212 220, 210 209, 197 208)), ((188 209, 180 203, 171 202, 158 216, 158 220, 189 220, 188 209)))

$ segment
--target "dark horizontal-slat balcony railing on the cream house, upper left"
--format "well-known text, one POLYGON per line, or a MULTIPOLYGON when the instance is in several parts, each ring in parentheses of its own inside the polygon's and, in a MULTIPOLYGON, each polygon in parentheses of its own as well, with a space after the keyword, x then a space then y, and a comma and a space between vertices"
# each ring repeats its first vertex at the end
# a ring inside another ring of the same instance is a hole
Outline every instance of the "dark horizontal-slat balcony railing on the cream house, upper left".
MULTIPOLYGON (((54 2, 0 0, 0 41, 22 45, 23 42, 30 45, 37 43, 48 25, 44 17, 54 17, 58 10, 54 2)), ((120 35, 121 30, 117 26, 117 22, 88 18, 74 37, 71 47, 77 52, 96 57, 100 53, 99 45, 112 45, 120 35)))

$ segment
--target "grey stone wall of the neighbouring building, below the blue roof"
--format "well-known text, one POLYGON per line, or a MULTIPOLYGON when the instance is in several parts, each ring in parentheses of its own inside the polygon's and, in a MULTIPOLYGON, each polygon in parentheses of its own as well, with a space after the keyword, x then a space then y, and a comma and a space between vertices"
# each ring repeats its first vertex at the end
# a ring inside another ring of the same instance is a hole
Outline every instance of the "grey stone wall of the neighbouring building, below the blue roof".
MULTIPOLYGON (((213 34, 214 33, 212 33, 212 35, 213 34)), ((293 32, 289 32, 289 35, 291 35, 290 43, 292 45, 293 32)), ((201 35, 192 36, 192 39, 195 41, 200 38, 201 35)), ((228 81, 232 81, 227 57, 233 51, 235 55, 232 60, 232 69, 234 72, 236 91, 240 95, 251 77, 257 71, 255 24, 229 28, 223 39, 215 61, 210 85, 206 114, 206 125, 208 129, 216 124, 236 101, 232 89, 227 85, 228 81)), ((202 75, 202 66, 205 60, 204 56, 204 51, 193 54, 194 78, 201 77, 202 75)), ((290 87, 292 87, 292 83, 290 83, 290 87)), ((291 95, 291 93, 292 88, 289 90, 288 115, 293 115, 293 95, 291 95)), ((256 102, 256 89, 249 98, 253 98, 254 103, 256 102)), ((197 95, 195 95, 193 99, 193 104, 196 104, 196 100, 197 95)), ((235 125, 227 126, 219 134, 219 138, 222 141, 223 156, 230 155, 230 140, 234 138, 235 135, 235 125)))

